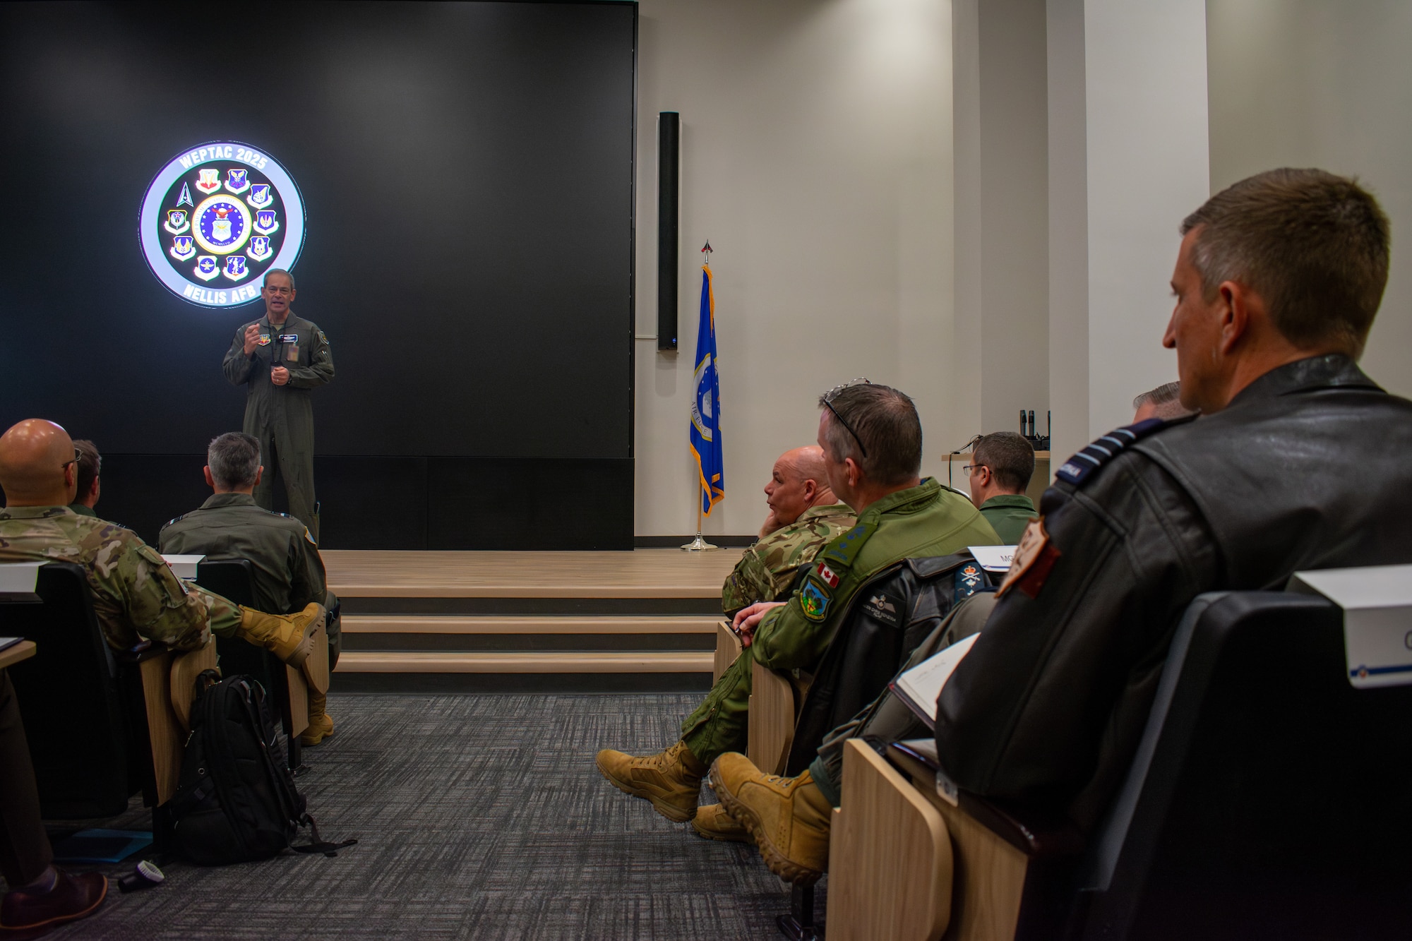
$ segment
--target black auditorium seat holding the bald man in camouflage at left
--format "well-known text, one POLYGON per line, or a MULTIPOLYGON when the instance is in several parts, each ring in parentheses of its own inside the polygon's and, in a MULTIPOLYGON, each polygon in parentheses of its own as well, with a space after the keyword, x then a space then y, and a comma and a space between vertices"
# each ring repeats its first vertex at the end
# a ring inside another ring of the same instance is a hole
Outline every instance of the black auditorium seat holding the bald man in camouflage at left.
POLYGON ((0 600, 0 634, 35 641, 10 667, 48 819, 116 817, 143 793, 154 838, 167 835, 195 677, 215 644, 189 653, 145 643, 114 653, 103 639, 79 565, 38 568, 34 593, 0 600))

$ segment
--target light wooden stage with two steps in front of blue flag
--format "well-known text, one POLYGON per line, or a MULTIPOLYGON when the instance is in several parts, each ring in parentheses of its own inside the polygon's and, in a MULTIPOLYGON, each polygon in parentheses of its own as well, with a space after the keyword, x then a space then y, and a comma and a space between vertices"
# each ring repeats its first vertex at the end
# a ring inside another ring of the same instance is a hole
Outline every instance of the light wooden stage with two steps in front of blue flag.
POLYGON ((710 684, 741 550, 328 550, 339 691, 666 691, 710 684))

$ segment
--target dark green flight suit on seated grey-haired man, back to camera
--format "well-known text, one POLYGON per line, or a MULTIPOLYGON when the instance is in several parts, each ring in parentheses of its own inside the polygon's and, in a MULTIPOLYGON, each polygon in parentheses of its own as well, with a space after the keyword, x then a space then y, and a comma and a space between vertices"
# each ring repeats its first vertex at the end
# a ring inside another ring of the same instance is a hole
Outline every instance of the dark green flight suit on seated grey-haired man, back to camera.
POLYGON ((249 493, 213 493, 192 510, 162 527, 158 545, 168 555, 247 558, 254 567, 256 598, 251 608, 291 615, 305 605, 329 609, 329 665, 342 649, 337 619, 339 599, 328 591, 323 560, 309 530, 292 516, 273 513, 249 493))

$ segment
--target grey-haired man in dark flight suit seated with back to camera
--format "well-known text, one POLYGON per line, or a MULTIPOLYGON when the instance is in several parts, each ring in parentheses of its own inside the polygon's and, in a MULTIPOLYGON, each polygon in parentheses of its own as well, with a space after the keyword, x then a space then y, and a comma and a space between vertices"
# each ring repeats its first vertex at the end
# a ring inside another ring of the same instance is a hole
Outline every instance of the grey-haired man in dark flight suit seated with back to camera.
MULTIPOLYGON (((230 431, 206 449, 206 483, 215 493, 162 527, 164 554, 205 555, 210 560, 250 560, 256 579, 256 608, 292 612, 308 605, 328 609, 329 668, 339 661, 339 599, 325 585, 323 560, 308 527, 291 516, 256 506, 253 492, 264 468, 254 435, 230 431)), ((309 728, 304 745, 333 735, 325 712, 326 695, 309 685, 309 728)))

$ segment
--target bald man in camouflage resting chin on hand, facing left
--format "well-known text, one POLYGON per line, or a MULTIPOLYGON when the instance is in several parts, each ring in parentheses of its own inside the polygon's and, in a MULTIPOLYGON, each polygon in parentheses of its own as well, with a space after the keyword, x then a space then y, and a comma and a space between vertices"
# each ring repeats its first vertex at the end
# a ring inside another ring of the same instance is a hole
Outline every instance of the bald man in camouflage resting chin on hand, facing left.
POLYGON ((744 551, 722 585, 720 609, 727 617, 788 592, 799 567, 853 526, 853 510, 829 487, 818 445, 779 455, 765 485, 765 504, 770 514, 760 541, 744 551))

